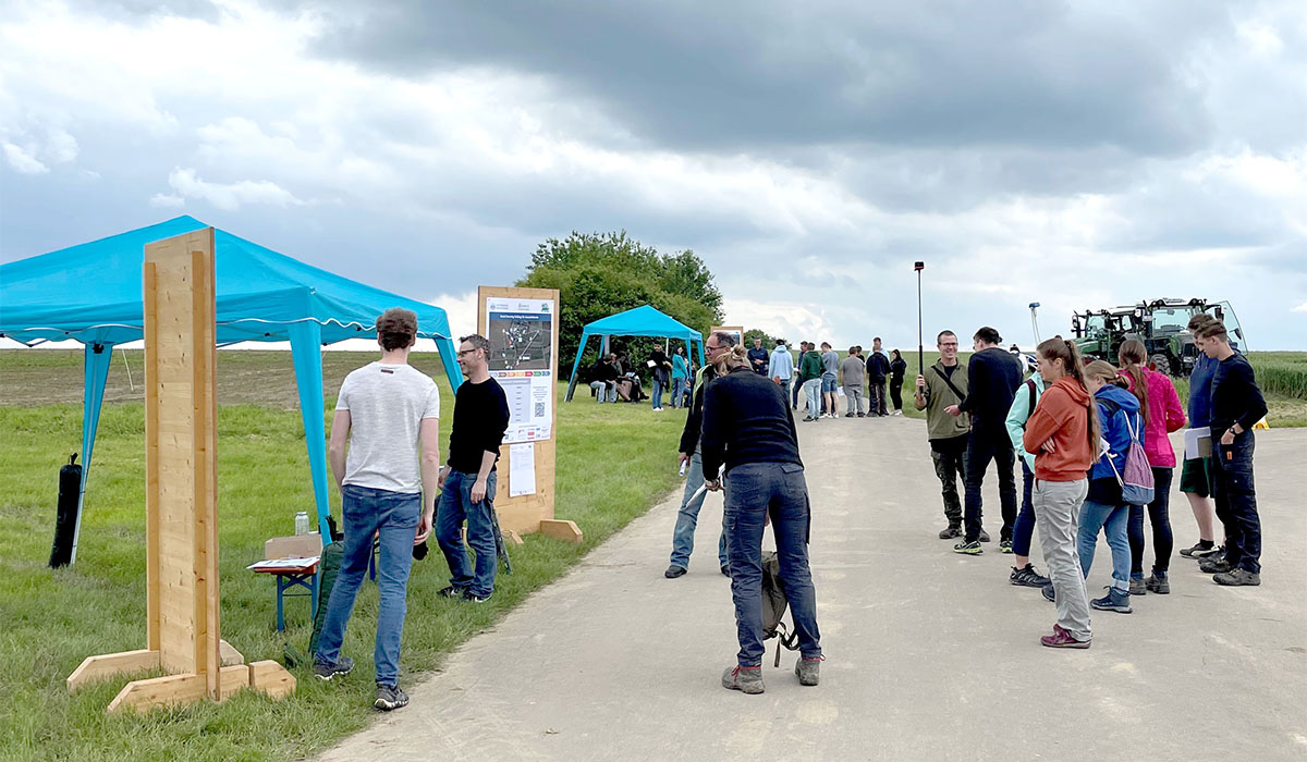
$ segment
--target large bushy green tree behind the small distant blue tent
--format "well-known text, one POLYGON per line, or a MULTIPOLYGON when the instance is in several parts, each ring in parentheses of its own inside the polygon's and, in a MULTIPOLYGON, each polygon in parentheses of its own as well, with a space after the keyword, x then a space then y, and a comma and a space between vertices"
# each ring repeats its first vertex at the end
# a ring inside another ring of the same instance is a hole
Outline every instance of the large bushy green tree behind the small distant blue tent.
MULTIPOLYGON (((685 250, 661 255, 651 246, 620 233, 576 233, 549 238, 536 247, 527 274, 518 286, 558 289, 558 357, 567 363, 587 323, 642 305, 699 332, 721 322, 721 291, 703 260, 685 250)), ((584 366, 595 362, 599 344, 591 342, 584 366)), ((661 340, 622 340, 633 359, 661 340)))

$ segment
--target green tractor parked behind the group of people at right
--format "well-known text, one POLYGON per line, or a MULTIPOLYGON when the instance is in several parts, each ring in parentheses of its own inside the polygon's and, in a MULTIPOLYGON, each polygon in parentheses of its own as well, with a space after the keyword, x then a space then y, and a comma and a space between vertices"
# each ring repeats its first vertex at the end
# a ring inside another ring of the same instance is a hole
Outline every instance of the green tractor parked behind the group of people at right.
POLYGON ((1089 359, 1117 361, 1117 352, 1127 339, 1138 339, 1148 348, 1149 365, 1158 373, 1187 376, 1193 370, 1199 349, 1193 336, 1185 328, 1189 318, 1208 312, 1225 323, 1230 332, 1230 344, 1240 352, 1243 328, 1234 314, 1230 302, 1208 302, 1206 299, 1154 299, 1140 302, 1133 307, 1115 310, 1086 310, 1072 315, 1072 329, 1076 332, 1076 345, 1089 359))

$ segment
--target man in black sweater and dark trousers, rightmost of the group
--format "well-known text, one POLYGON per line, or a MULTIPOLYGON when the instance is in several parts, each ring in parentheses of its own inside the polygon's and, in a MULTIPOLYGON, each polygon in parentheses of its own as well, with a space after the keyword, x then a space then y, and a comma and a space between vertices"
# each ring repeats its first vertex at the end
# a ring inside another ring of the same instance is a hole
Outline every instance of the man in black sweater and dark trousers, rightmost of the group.
MULTIPOLYGON (((1230 346, 1222 323, 1199 328, 1202 352, 1219 361, 1212 378, 1213 497, 1225 524, 1225 558, 1213 561, 1212 580, 1225 586, 1261 584, 1261 518, 1252 485, 1252 427, 1266 414, 1248 359, 1230 346)), ((1204 569, 1208 569, 1204 567, 1204 569)))

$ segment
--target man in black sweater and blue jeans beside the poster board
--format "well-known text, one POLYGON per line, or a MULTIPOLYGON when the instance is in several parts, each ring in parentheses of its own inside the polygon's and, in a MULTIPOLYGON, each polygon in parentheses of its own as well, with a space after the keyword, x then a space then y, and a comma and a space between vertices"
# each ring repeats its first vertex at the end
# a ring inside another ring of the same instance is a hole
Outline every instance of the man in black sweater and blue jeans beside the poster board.
POLYGON ((486 358, 490 342, 472 335, 459 345, 459 366, 467 375, 454 396, 450 459, 440 469, 440 505, 435 540, 450 565, 450 587, 438 595, 485 603, 494 592, 499 557, 494 542, 495 463, 508 429, 508 399, 490 378, 486 358), (463 520, 468 545, 477 552, 476 572, 463 546, 463 520))

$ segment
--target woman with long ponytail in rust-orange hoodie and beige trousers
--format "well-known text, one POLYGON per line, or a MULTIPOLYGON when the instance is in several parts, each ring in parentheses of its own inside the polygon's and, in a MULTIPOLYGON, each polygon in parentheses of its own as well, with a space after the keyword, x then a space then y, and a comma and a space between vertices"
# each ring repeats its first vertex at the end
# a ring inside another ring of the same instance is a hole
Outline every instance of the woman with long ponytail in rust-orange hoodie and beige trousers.
POLYGON ((1085 472, 1098 452, 1098 416, 1074 344, 1057 336, 1042 342, 1035 354, 1047 388, 1026 421, 1022 444, 1035 454, 1035 527, 1057 603, 1053 634, 1039 642, 1050 648, 1089 648, 1093 633, 1076 555, 1076 523, 1089 491, 1085 472))

